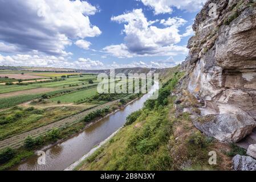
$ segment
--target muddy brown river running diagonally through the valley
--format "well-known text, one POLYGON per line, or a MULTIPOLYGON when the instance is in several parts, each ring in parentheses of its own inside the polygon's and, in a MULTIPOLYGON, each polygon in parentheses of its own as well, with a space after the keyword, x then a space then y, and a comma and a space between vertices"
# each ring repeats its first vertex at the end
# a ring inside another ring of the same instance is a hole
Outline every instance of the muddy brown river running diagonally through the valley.
POLYGON ((128 115, 141 109, 144 102, 147 101, 157 89, 159 89, 159 84, 156 82, 149 93, 145 94, 139 100, 132 102, 132 104, 129 104, 123 110, 119 110, 101 119, 99 122, 74 137, 44 151, 46 152, 46 165, 39 165, 39 156, 32 156, 25 162, 11 168, 11 170, 59 171, 66 169, 119 130, 120 127, 124 125, 128 115))

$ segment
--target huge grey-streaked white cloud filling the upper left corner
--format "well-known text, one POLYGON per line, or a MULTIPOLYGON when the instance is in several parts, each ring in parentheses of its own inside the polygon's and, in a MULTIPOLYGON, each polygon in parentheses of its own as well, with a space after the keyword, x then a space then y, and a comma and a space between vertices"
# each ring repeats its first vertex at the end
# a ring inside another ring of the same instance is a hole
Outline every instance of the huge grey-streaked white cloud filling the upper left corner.
POLYGON ((0 1, 0 40, 15 45, 19 52, 67 56, 70 53, 64 49, 72 40, 101 34, 89 19, 96 12, 96 7, 79 0, 0 1))

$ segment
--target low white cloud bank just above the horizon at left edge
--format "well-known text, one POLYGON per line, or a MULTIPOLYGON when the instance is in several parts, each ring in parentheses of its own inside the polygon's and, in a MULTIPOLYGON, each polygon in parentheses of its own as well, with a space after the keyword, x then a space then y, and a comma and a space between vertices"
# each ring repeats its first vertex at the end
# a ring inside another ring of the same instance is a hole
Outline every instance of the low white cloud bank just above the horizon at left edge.
POLYGON ((79 58, 72 61, 62 56, 47 55, 13 55, 2 56, 0 54, 0 65, 26 66, 26 67, 54 67, 54 68, 76 68, 76 69, 103 69, 103 63, 97 60, 79 58))

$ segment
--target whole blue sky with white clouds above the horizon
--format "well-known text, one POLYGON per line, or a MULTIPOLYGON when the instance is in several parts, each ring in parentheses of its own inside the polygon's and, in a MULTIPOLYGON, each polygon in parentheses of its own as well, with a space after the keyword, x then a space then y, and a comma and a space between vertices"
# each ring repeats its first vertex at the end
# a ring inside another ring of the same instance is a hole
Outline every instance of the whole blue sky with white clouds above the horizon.
POLYGON ((188 54, 204 2, 3 0, 0 65, 172 67, 188 54))

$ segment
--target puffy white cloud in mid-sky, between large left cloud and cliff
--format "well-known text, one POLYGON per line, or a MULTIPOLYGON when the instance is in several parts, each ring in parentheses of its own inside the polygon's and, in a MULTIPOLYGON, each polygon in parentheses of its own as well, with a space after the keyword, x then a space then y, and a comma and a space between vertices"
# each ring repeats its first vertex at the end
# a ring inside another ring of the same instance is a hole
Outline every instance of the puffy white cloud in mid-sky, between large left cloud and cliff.
POLYGON ((166 56, 187 53, 185 47, 175 45, 181 41, 182 35, 178 33, 178 27, 185 22, 183 19, 176 18, 171 26, 158 28, 151 25, 154 22, 148 22, 142 9, 136 9, 130 13, 113 16, 111 20, 125 23, 123 32, 126 35, 124 44, 112 45, 103 49, 113 56, 166 56))

